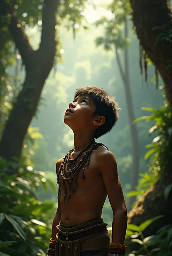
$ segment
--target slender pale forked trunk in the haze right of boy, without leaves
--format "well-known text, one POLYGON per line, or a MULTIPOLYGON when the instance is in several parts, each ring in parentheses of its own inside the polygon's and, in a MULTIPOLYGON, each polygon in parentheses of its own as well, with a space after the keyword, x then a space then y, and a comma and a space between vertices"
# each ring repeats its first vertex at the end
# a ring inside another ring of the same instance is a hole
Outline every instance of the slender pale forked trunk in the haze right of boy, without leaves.
MULTIPOLYGON (((124 37, 128 38, 128 24, 127 19, 124 22, 124 37)), ((130 75, 129 75, 129 64, 128 64, 128 46, 125 46, 124 49, 124 71, 122 69, 122 65, 119 59, 119 53, 115 45, 115 53, 116 60, 118 63, 120 75, 122 77, 122 81, 124 84, 124 90, 126 94, 126 102, 127 102, 127 110, 128 110, 128 121, 130 126, 130 134, 131 134, 131 143, 132 143, 132 172, 131 172, 131 191, 135 190, 138 185, 138 173, 139 173, 139 142, 138 142, 138 132, 136 124, 132 124, 135 120, 133 104, 132 104, 132 96, 130 90, 130 75)), ((135 202, 136 198, 130 197, 128 208, 130 209, 131 205, 135 202)))

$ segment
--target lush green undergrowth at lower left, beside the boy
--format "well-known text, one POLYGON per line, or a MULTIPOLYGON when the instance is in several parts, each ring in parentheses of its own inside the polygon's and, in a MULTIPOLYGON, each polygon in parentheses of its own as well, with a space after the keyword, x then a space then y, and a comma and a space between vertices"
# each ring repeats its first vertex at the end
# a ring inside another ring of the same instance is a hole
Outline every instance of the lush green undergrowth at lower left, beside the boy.
MULTIPOLYGON (((26 140, 30 135, 33 138, 33 134, 30 128, 26 140)), ((37 131, 34 135, 40 137, 37 131)), ((24 148, 28 144, 25 141, 24 148)), ((33 150, 29 147, 27 150, 18 166, 15 162, 0 159, 0 256, 45 256, 51 236, 55 204, 40 202, 36 194, 40 184, 44 189, 47 184, 53 190, 55 187, 44 178, 44 172, 33 169, 30 160, 33 150), (7 175, 11 167, 17 172, 7 175)))

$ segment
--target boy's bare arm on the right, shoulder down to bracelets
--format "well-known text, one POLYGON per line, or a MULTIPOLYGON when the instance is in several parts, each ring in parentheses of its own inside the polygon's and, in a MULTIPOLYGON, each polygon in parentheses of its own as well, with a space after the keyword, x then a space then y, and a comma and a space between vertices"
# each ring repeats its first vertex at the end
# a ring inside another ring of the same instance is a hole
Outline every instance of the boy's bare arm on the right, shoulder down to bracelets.
POLYGON ((98 158, 99 170, 102 174, 114 214, 112 222, 112 243, 123 244, 127 228, 127 209, 118 177, 116 160, 110 151, 102 151, 99 153, 98 158))

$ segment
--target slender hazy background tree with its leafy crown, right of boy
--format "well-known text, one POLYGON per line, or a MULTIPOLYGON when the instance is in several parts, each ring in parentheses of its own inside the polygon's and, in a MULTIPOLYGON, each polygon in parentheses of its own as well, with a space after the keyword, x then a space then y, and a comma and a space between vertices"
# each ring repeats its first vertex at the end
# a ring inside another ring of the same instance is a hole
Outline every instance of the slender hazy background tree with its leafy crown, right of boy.
MULTIPOLYGON (((134 109, 132 104, 132 97, 130 91, 130 72, 128 64, 128 20, 127 17, 130 11, 130 5, 128 1, 113 1, 112 4, 108 6, 108 9, 112 12, 112 19, 107 17, 102 17, 101 20, 96 22, 96 25, 101 25, 106 23, 105 27, 105 37, 98 37, 96 40, 97 45, 104 45, 105 50, 115 49, 116 61, 118 63, 118 68, 120 71, 120 76, 123 81, 127 109, 128 109, 128 119, 130 126, 131 142, 132 142, 132 172, 131 172, 131 191, 135 190, 138 184, 138 174, 139 174, 139 142, 138 142, 138 131, 136 125, 133 125, 135 120, 134 109), (122 29, 124 25, 124 31, 122 29), (122 33, 124 32, 124 36, 122 33), (119 49, 124 50, 124 68, 122 66, 122 61, 120 60, 119 49)), ((131 197, 129 200, 129 208, 131 204, 135 202, 135 197, 131 197)))

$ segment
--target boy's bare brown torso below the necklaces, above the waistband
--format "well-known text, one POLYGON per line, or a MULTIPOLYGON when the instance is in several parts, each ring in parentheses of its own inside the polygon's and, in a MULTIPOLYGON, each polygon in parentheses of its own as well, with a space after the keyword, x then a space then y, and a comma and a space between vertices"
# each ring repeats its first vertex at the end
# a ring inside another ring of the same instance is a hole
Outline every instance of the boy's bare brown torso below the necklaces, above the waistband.
MULTIPOLYGON (((107 150, 102 146, 93 150, 90 156, 90 163, 85 167, 85 180, 81 179, 81 170, 78 173, 75 196, 73 194, 69 202, 64 203, 64 186, 62 176, 60 175, 61 184, 61 222, 63 224, 75 225, 88 220, 101 218, 102 208, 107 196, 106 188, 102 175, 98 170, 97 154, 107 150)), ((77 160, 83 157, 84 153, 77 160)), ((76 156, 74 156, 76 157, 76 156)), ((73 155, 71 154, 71 158, 73 155)), ((63 159, 60 159, 61 162, 63 159)), ((58 171, 58 170, 57 170, 58 171)), ((66 184, 66 199, 69 196, 69 185, 66 184)), ((67 200, 66 200, 67 201, 67 200)))

